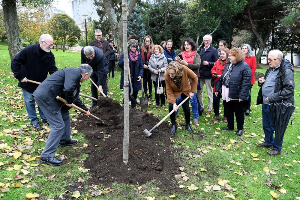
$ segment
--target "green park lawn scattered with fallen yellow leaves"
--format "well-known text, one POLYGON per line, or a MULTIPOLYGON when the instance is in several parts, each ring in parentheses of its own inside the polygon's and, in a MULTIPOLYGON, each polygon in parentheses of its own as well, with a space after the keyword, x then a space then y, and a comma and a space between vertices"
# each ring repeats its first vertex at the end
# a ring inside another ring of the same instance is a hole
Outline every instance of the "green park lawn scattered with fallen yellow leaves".
MULTIPOLYGON (((80 53, 55 50, 52 52, 55 55, 55 61, 59 69, 63 67, 77 67, 80 64, 80 53)), ((266 68, 264 67, 263 70, 257 70, 257 72, 264 73, 265 70, 266 68)), ((43 131, 35 131, 29 126, 30 121, 26 116, 22 92, 16 86, 16 79, 8 77, 12 73, 10 71, 10 57, 7 46, 0 46, 0 74, 2 77, 0 81, 0 127, 3 129, 0 130, 0 152, 3 153, 7 149, 10 151, 9 156, 4 153, 0 157, 0 182, 3 183, 0 184, 2 188, 7 187, 9 189, 8 192, 0 192, 0 199, 26 199, 26 193, 38 193, 41 199, 54 197, 57 199, 66 190, 70 191, 70 193, 67 192, 69 198, 75 191, 79 191, 81 196, 78 199, 84 199, 84 197, 88 197, 88 199, 146 199, 147 197, 168 199, 170 195, 175 195, 174 199, 229 199, 229 197, 225 197, 226 195, 235 195, 235 199, 271 199, 271 191, 280 195, 278 199, 295 199, 300 197, 300 151, 298 145, 300 139, 297 138, 300 136, 300 103, 298 102, 300 99, 298 90, 300 72, 294 73, 296 88, 295 106, 297 108, 293 114, 292 125, 289 125, 286 130, 283 150, 280 156, 269 156, 266 154, 267 149, 254 145, 255 142, 262 140, 264 135, 261 105, 255 106, 256 95, 259 89, 255 84, 252 88, 252 110, 249 116, 245 116, 243 139, 236 136, 233 131, 218 130, 218 128, 224 127, 226 124, 222 122, 214 124, 208 121, 208 119, 213 117, 213 114, 211 116, 203 114, 199 117, 199 126, 192 125, 195 132, 204 132, 207 135, 205 138, 188 134, 186 130, 177 130, 176 136, 179 139, 174 141, 174 148, 183 148, 184 151, 181 155, 175 156, 182 157, 180 165, 185 167, 184 172, 188 175, 187 181, 176 179, 178 186, 183 185, 185 187, 179 190, 181 192, 173 193, 169 191, 166 193, 157 190, 155 183, 159 182, 159 180, 153 180, 142 186, 147 188, 146 193, 139 193, 137 185, 113 184, 113 191, 103 192, 101 196, 95 197, 92 197, 88 191, 91 188, 87 188, 90 186, 87 184, 90 177, 89 173, 80 172, 78 169, 78 167, 82 167, 82 160, 88 156, 83 151, 84 144, 89 143, 85 140, 84 133, 78 133, 72 127, 72 138, 79 140, 79 144, 76 145, 78 148, 58 148, 56 151, 59 154, 58 157, 67 157, 64 160, 64 163, 67 164, 60 167, 41 165, 38 158, 35 159, 34 157, 40 156, 49 127, 46 127, 47 129, 43 131), (7 145, 4 145, 5 143, 7 145), (22 147, 22 145, 25 144, 28 149, 19 150, 24 148, 25 146, 22 147), (12 148, 13 151, 11 151, 12 148), (23 154, 14 159, 13 155, 17 155, 17 153, 13 153, 14 151, 22 151, 23 154), (250 153, 258 154, 256 160, 253 160, 253 156, 250 153), (200 157, 190 158, 189 154, 197 154, 200 157), (19 167, 21 168, 18 169, 19 167), (263 171, 265 167, 268 167, 271 173, 275 172, 277 174, 267 174, 269 172, 263 171), (25 172, 25 169, 29 174, 24 175, 21 169, 23 172, 25 172), (240 172, 241 175, 234 172, 240 172), (50 178, 54 174, 55 176, 50 178), (13 179, 16 175, 22 175, 25 183, 21 183, 21 180, 13 179), (78 182, 79 178, 82 178, 84 182, 78 182), (266 178, 270 178, 272 184, 284 188, 286 194, 275 188, 268 187, 265 184, 266 178), (228 184, 232 188, 236 188, 236 191, 230 190, 228 194, 225 194, 226 190, 222 189, 220 185, 221 190, 219 191, 214 191, 213 189, 208 192, 204 191, 206 186, 218 185, 218 179, 228 180, 228 184), (179 181, 181 182, 179 183, 179 181), (194 184, 198 189, 194 191, 188 190, 187 188, 191 184, 194 184), (81 188, 78 188, 80 186, 81 188)), ((108 96, 122 103, 123 93, 119 89, 120 76, 120 72, 116 72, 116 79, 110 79, 110 94, 108 96)), ((81 89, 83 94, 91 95, 89 82, 84 82, 81 89)), ((207 106, 207 96, 204 96, 204 98, 204 103, 207 106)), ((87 106, 91 105, 91 100, 82 100, 87 106)), ((162 119, 167 115, 167 107, 155 108, 153 106, 154 102, 150 104, 149 111, 153 112, 158 118, 162 119)), ((222 106, 221 109, 220 116, 223 114, 222 106)), ((70 113, 71 119, 75 120, 78 112, 72 110, 70 113)), ((179 111, 179 116, 183 118, 182 108, 179 111)), ((170 121, 170 118, 167 120, 170 121)), ((168 169, 165 168, 164 170, 168 169)), ((178 174, 180 174, 180 170, 178 174)), ((96 187, 99 190, 104 190, 106 186, 96 187)))

